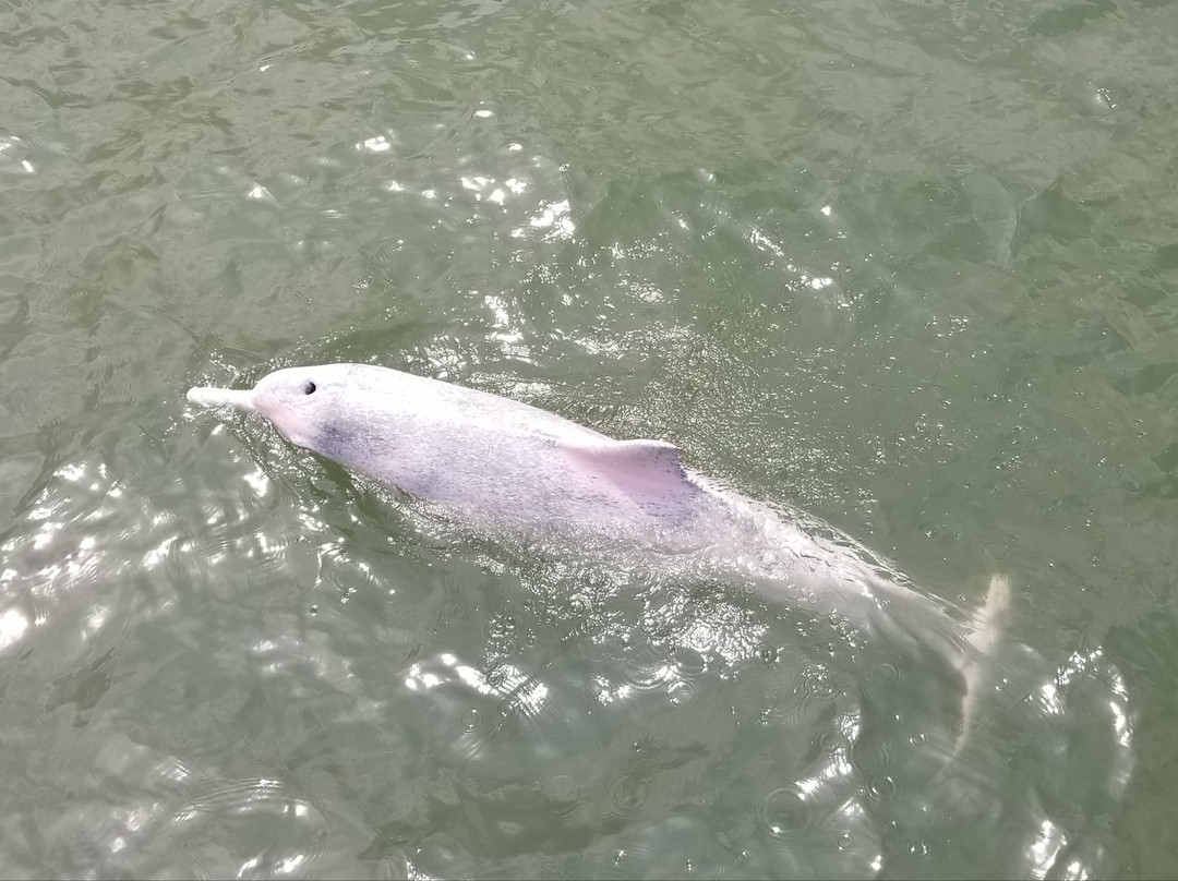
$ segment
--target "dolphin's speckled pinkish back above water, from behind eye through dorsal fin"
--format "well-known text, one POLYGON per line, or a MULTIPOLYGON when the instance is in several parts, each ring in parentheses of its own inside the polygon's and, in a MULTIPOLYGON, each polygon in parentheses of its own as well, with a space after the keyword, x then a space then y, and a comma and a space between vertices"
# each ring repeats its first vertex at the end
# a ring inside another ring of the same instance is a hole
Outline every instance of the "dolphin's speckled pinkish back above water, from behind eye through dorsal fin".
POLYGON ((350 365, 300 445, 428 501, 525 521, 681 521, 701 488, 664 440, 615 440, 510 398, 350 365))

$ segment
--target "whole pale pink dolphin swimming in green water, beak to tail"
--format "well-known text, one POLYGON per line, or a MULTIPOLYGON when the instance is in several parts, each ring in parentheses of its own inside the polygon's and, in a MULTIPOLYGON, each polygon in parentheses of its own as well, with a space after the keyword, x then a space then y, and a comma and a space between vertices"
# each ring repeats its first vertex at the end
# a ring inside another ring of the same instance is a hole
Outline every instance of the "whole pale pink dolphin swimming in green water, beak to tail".
POLYGON ((1008 604, 1001 576, 972 618, 958 622, 851 537, 710 484, 670 443, 615 440, 528 404, 398 370, 289 367, 252 390, 196 387, 187 397, 262 416, 294 445, 458 519, 648 549, 669 563, 688 561, 699 576, 845 620, 867 637, 932 651, 964 687, 952 756, 973 727, 984 663, 1008 604))

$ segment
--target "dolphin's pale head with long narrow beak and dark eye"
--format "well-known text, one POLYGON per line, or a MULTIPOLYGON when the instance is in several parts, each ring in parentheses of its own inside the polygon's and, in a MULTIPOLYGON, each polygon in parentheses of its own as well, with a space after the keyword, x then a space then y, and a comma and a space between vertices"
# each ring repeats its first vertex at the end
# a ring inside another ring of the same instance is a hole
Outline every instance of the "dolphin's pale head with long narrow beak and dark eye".
POLYGON ((349 364, 322 364, 276 370, 245 391, 190 389, 188 400, 211 409, 257 413, 269 419, 292 444, 313 448, 322 426, 331 417, 350 367, 349 364))

